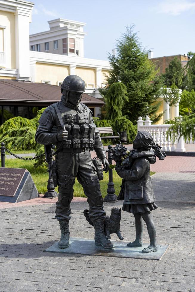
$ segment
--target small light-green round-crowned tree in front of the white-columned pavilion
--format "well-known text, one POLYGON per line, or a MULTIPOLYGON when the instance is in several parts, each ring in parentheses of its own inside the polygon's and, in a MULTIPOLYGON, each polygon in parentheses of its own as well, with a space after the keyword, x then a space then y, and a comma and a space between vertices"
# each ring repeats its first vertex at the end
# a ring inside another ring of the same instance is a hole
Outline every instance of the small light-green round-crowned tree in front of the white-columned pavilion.
POLYGON ((171 85, 170 88, 163 87, 161 90, 162 97, 164 101, 169 105, 169 119, 171 106, 175 106, 180 99, 179 88, 176 85, 171 85))

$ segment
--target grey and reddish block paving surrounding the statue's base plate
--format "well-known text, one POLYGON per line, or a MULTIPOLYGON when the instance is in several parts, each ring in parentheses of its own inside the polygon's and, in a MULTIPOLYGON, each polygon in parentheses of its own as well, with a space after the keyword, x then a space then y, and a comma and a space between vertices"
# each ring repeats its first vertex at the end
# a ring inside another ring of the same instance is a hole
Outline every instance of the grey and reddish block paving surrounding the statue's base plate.
MULTIPOLYGON (((162 260, 136 260, 44 252, 60 238, 55 199, 0 203, 0 291, 195 292, 195 158, 167 156, 151 166, 158 209, 157 242, 169 244, 162 260)), ((123 202, 104 203, 106 214, 123 202)), ((93 238, 84 220, 85 198, 72 201, 72 237, 93 238)), ((135 237, 134 216, 122 212, 121 234, 135 237)), ((116 235, 112 240, 118 240, 116 235)), ((143 242, 149 238, 144 226, 143 242)))

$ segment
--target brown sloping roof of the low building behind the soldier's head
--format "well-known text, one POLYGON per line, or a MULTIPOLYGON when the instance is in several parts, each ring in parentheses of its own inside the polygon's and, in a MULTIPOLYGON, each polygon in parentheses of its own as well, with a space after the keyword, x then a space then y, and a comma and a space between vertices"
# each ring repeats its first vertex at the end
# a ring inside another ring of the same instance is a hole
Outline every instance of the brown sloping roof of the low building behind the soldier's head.
MULTIPOLYGON (((60 86, 44 83, 0 80, 1 105, 31 105, 48 106, 60 101, 60 86)), ((101 107, 105 104, 102 100, 83 93, 81 102, 91 107, 101 107)))

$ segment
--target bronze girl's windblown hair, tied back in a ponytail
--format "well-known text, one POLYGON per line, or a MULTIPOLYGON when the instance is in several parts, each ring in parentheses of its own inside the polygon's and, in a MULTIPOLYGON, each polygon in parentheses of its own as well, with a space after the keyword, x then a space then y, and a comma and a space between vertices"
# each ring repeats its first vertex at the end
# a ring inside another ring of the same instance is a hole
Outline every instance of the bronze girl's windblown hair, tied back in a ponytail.
POLYGON ((154 141, 152 139, 152 135, 149 132, 145 132, 145 131, 138 131, 137 133, 137 139, 139 140, 140 144, 143 146, 143 148, 145 148, 146 150, 149 149, 154 149, 156 152, 156 156, 160 159, 160 160, 164 160, 165 159, 165 152, 162 152, 160 149, 161 147, 158 144, 154 144, 154 141))

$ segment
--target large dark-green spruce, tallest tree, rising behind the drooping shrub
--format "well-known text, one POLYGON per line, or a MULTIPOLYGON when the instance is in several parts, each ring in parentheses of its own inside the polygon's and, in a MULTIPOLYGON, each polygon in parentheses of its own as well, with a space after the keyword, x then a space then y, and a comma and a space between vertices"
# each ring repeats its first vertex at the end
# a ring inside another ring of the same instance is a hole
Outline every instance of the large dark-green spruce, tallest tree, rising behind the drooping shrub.
MULTIPOLYGON (((134 26, 126 28, 126 32, 116 42, 116 56, 109 54, 112 69, 106 77, 107 85, 100 89, 106 96, 110 86, 119 80, 127 88, 128 100, 125 100, 122 114, 136 123, 140 115, 155 115, 160 103, 155 103, 162 86, 162 77, 157 76, 154 64, 142 48, 134 26)), ((162 116, 162 114, 161 114, 162 116)), ((160 114, 156 114, 156 120, 160 114)))

